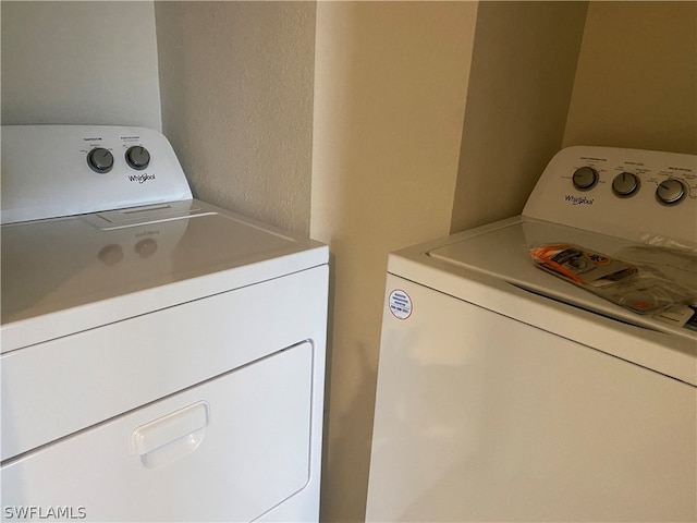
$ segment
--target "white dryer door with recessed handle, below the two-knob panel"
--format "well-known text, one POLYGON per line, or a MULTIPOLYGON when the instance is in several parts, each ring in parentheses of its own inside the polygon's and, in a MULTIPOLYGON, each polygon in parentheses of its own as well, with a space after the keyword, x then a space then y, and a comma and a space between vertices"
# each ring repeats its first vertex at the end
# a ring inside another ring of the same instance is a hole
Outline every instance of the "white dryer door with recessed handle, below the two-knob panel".
POLYGON ((313 350, 277 352, 5 464, 3 519, 258 518, 309 481, 313 350))

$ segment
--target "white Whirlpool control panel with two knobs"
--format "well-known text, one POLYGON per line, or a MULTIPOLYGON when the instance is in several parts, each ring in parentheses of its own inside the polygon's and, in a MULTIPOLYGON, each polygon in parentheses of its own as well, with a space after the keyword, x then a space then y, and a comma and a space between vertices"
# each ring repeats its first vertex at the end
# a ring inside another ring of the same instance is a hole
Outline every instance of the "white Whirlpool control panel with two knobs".
POLYGON ((172 146, 152 129, 2 126, 2 223, 191 198, 172 146))

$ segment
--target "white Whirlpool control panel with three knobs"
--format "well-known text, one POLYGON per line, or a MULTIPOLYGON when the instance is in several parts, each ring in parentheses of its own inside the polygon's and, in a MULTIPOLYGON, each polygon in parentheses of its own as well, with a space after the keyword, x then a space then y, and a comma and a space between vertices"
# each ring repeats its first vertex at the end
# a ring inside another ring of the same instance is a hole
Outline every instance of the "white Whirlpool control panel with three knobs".
POLYGON ((549 162, 523 215, 603 234, 697 245, 697 156, 574 146, 549 162))

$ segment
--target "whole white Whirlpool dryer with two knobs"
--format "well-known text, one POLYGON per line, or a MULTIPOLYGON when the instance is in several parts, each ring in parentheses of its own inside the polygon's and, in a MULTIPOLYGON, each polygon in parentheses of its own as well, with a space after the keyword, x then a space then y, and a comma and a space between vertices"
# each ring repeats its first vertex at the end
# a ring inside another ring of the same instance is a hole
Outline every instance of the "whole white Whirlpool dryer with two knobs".
POLYGON ((327 292, 159 132, 3 126, 3 521, 317 521, 327 292))

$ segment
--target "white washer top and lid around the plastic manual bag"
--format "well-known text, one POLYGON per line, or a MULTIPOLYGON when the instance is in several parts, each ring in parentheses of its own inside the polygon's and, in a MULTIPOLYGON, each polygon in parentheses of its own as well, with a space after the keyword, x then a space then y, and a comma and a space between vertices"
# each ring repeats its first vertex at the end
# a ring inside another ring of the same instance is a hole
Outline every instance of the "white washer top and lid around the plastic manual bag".
MULTIPOLYGON (((521 217, 407 247, 388 271, 562 338, 697 385, 697 332, 639 315, 535 266, 529 244, 564 242, 614 254, 636 245, 521 217)), ((414 303, 417 315, 419 304, 414 303)))

